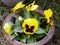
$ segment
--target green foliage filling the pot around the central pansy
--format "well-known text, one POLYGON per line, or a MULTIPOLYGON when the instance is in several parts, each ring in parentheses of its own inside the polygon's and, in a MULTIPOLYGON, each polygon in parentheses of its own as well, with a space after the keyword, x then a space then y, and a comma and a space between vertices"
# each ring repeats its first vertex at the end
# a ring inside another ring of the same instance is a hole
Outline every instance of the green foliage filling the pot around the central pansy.
MULTIPOLYGON (((24 19, 36 18, 39 22, 39 25, 42 24, 42 22, 44 22, 44 18, 41 17, 37 12, 34 12, 34 11, 27 12, 25 9, 23 9, 22 11, 23 11, 23 13, 21 13, 21 15, 24 19), (43 19, 42 22, 40 21, 41 19, 43 19)), ((12 21, 13 22, 12 29, 14 30, 14 33, 11 35, 11 40, 16 39, 23 43, 34 43, 37 41, 37 39, 43 38, 45 35, 47 35, 48 31, 46 33, 46 30, 48 27, 43 29, 40 26, 34 34, 32 34, 32 35, 25 34, 24 29, 22 28, 22 23, 24 20, 22 20, 22 21, 19 20, 19 16, 21 16, 21 15, 19 15, 19 14, 13 15, 13 18, 15 18, 14 19, 15 21, 14 22, 12 21)))

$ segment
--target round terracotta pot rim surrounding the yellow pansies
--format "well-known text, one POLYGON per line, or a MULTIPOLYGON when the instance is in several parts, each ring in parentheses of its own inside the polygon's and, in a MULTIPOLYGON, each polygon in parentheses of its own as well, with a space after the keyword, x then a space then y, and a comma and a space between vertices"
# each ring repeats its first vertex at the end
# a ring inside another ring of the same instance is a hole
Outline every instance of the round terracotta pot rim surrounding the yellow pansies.
MULTIPOLYGON (((43 10, 37 9, 35 11, 44 16, 43 10)), ((13 14, 15 14, 15 13, 12 12, 12 13, 8 14, 8 16, 3 21, 3 25, 6 21, 10 21, 12 19, 13 14)), ((48 34, 43 39, 41 39, 38 42, 31 43, 31 44, 21 43, 21 42, 18 42, 17 40, 10 40, 10 35, 8 35, 4 30, 3 30, 3 34, 11 45, 44 45, 53 37, 54 30, 55 30, 55 25, 50 26, 48 34)))

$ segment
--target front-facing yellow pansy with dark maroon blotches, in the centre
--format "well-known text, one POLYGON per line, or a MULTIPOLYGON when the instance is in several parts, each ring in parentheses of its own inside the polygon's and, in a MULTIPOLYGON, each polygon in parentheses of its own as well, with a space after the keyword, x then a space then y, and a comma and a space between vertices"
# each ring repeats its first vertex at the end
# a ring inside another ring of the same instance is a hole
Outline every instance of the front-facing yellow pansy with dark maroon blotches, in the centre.
POLYGON ((22 23, 22 27, 24 29, 24 33, 34 34, 38 29, 38 20, 35 18, 27 18, 22 23))

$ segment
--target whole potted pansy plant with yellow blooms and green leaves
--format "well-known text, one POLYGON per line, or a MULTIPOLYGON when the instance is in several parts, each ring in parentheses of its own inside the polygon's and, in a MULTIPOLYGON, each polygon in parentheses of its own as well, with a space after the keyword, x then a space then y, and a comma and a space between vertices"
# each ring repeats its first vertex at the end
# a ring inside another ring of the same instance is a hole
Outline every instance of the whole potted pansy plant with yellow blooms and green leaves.
POLYGON ((46 30, 49 29, 50 25, 53 25, 53 21, 50 19, 53 15, 52 9, 44 10, 44 17, 35 12, 39 6, 33 1, 29 5, 25 5, 22 2, 18 2, 11 10, 13 12, 18 9, 22 9, 22 13, 19 15, 13 15, 15 22, 6 22, 3 26, 5 32, 11 35, 11 39, 16 39, 24 43, 36 42, 38 38, 42 38, 47 35, 46 30), (41 21, 41 19, 43 19, 41 21), (46 21, 47 20, 47 21, 46 21), (40 27, 43 22, 46 21, 47 25, 45 28, 40 27), (29 42, 30 41, 30 42, 29 42))

